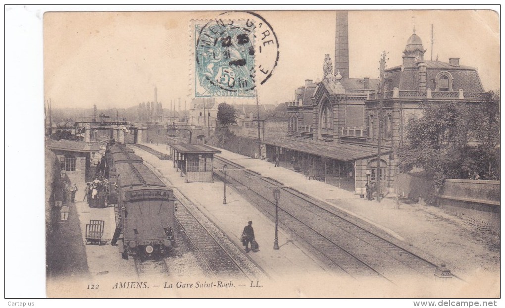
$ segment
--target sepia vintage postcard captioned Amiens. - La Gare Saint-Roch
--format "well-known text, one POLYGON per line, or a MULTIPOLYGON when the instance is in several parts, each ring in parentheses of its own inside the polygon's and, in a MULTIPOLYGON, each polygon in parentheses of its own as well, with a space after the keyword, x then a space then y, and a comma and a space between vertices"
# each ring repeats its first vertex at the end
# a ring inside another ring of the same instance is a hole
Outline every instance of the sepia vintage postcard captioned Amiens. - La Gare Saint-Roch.
POLYGON ((499 46, 490 10, 46 12, 47 297, 500 297, 499 46))

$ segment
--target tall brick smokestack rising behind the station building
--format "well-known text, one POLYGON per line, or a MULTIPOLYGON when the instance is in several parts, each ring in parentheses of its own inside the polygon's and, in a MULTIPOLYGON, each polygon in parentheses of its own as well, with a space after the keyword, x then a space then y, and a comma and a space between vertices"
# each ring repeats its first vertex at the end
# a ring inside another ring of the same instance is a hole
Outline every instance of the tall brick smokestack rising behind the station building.
POLYGON ((335 27, 335 76, 349 78, 349 34, 347 11, 337 11, 335 27))

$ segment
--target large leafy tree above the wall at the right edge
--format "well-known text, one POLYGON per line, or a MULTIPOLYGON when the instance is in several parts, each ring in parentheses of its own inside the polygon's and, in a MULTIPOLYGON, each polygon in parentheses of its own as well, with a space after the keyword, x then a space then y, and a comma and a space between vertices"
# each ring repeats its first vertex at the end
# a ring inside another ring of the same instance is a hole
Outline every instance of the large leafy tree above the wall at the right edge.
POLYGON ((499 179, 499 91, 479 104, 453 101, 421 104, 423 117, 407 125, 406 144, 399 148, 402 172, 422 168, 433 177, 438 193, 444 179, 499 179))

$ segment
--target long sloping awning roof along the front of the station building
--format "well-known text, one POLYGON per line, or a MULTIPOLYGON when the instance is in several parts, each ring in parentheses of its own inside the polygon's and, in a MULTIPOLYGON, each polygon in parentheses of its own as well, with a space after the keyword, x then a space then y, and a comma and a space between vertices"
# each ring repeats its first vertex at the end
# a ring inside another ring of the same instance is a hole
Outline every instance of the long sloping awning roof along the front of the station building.
MULTIPOLYGON (((330 143, 294 137, 272 138, 265 140, 264 143, 344 162, 377 155, 377 146, 374 145, 330 143)), ((389 151, 389 148, 381 149, 382 154, 389 151)))

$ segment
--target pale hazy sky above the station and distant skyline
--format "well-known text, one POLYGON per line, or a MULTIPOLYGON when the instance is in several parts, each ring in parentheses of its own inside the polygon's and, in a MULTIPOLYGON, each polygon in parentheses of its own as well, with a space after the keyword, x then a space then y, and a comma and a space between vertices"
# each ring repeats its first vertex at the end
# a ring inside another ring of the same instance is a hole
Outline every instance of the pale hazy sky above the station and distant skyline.
MULTIPOLYGON (((44 99, 58 107, 128 108, 154 100, 164 108, 192 98, 191 20, 220 12, 55 12, 43 16, 44 99)), ((260 103, 294 97, 306 79, 323 75, 324 55, 334 60, 334 11, 258 11, 275 31, 279 61, 258 88, 260 103)), ((388 67, 401 64, 413 33, 423 41, 425 60, 476 67, 485 90, 499 88, 499 23, 493 11, 349 11, 351 78, 377 78, 381 52, 388 67)), ((222 99, 220 101, 223 101, 222 99)), ((255 103, 254 100, 224 99, 255 103)))

